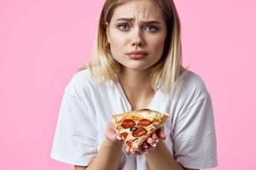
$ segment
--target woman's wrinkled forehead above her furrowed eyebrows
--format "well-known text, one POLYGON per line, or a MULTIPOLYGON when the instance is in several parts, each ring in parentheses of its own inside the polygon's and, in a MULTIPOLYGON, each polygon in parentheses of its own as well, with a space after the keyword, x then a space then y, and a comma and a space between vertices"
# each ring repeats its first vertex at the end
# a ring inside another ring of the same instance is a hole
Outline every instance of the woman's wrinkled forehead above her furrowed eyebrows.
POLYGON ((133 0, 119 5, 113 11, 111 20, 129 18, 132 20, 157 20, 164 22, 154 0, 133 0))

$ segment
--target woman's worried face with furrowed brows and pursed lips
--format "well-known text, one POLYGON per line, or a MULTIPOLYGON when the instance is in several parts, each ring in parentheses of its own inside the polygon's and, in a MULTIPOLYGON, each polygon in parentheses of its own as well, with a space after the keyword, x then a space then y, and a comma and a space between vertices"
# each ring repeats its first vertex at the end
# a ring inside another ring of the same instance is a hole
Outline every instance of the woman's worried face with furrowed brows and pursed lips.
POLYGON ((163 54, 166 24, 154 1, 134 0, 114 9, 107 36, 115 60, 125 69, 143 71, 163 54))

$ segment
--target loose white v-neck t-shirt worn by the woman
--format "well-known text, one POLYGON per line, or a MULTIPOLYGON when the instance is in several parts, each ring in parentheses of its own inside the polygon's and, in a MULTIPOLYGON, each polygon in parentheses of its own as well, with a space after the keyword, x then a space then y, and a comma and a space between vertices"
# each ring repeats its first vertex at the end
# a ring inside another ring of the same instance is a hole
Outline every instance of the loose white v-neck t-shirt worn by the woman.
MULTIPOLYGON (((201 77, 184 71, 174 93, 157 90, 148 109, 167 111, 165 144, 183 167, 216 167, 217 144, 212 101, 201 77)), ((98 85, 90 71, 77 72, 68 83, 51 157, 73 165, 87 166, 100 149, 112 114, 131 111, 118 81, 98 85)), ((125 146, 119 164, 122 170, 148 170, 145 156, 127 156, 125 146)))

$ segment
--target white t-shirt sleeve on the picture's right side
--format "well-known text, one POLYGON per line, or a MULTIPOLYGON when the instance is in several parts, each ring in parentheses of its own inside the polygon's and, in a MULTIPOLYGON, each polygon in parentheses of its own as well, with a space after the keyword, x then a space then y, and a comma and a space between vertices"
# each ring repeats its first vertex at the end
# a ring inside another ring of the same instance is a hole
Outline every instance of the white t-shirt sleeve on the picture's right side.
POLYGON ((174 158, 183 167, 202 169, 218 166, 212 100, 209 95, 179 113, 172 139, 174 158))

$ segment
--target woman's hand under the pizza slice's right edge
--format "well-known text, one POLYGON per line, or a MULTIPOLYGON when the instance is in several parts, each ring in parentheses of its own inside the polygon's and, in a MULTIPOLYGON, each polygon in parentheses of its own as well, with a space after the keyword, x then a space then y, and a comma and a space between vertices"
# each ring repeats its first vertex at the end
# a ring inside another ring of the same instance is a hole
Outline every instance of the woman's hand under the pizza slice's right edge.
POLYGON ((128 155, 143 155, 143 154, 148 154, 150 150, 154 150, 157 143, 160 140, 165 140, 166 135, 165 135, 165 127, 160 127, 158 128, 154 133, 152 133, 145 142, 141 145, 141 147, 135 151, 135 152, 130 152, 129 147, 126 146, 125 151, 128 155))

